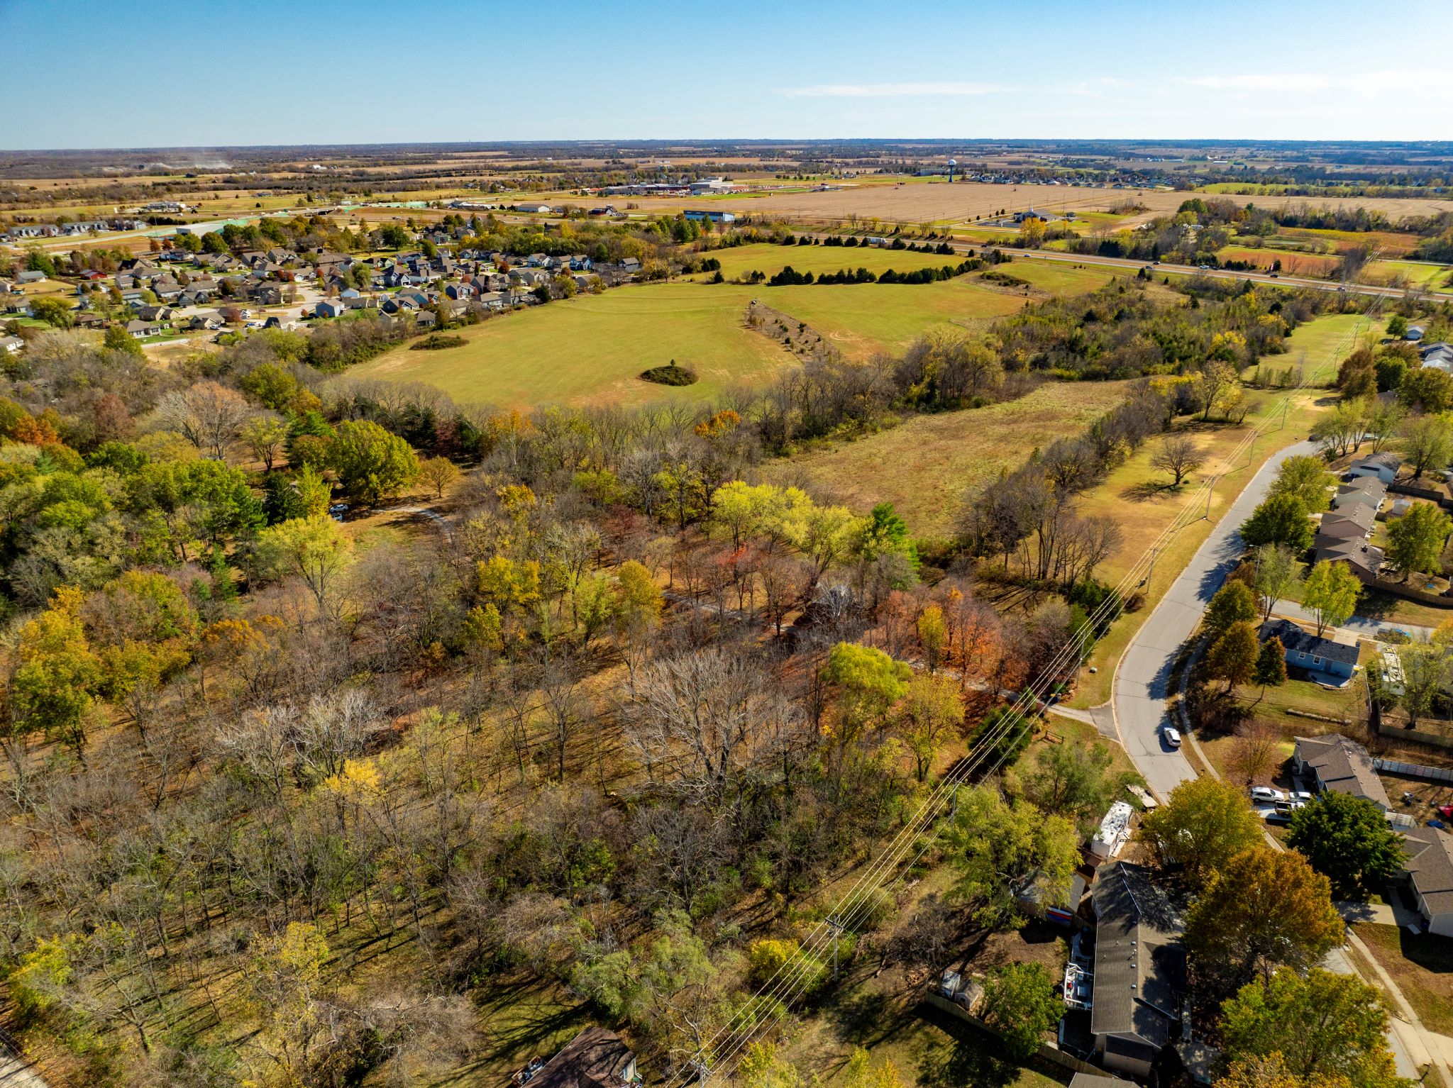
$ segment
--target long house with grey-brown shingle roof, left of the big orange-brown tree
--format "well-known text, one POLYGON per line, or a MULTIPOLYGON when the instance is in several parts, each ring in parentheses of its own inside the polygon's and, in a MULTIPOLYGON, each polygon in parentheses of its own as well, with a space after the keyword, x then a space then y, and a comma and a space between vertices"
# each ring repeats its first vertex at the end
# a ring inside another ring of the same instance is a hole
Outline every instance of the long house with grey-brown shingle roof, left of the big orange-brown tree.
POLYGON ((1096 876, 1090 1031, 1106 1069, 1145 1078, 1180 1037, 1184 924, 1145 866, 1107 861, 1096 876))

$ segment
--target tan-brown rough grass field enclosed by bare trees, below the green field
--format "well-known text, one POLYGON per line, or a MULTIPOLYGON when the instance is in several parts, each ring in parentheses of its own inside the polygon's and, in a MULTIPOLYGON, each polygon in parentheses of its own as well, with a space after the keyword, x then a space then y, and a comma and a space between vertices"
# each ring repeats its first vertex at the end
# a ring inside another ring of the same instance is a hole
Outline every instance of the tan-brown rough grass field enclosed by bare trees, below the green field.
POLYGON ((1048 382, 1017 401, 917 415, 856 442, 815 447, 767 465, 764 475, 777 482, 805 478, 860 513, 892 503, 914 535, 946 537, 966 488, 1019 468, 1036 447, 1078 434, 1119 404, 1128 385, 1048 382))

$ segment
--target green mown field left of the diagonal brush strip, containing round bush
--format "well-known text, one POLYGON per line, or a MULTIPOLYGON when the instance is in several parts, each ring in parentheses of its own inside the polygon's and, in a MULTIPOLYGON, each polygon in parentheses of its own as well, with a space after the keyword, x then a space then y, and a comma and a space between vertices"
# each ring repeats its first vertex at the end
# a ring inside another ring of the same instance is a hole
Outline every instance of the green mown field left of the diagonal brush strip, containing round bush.
POLYGON ((697 283, 618 288, 491 318, 459 331, 461 347, 400 347, 353 373, 427 382, 459 401, 504 408, 709 399, 732 385, 763 382, 792 362, 745 327, 742 314, 757 293, 697 283), (638 378, 671 359, 700 381, 673 388, 638 378))

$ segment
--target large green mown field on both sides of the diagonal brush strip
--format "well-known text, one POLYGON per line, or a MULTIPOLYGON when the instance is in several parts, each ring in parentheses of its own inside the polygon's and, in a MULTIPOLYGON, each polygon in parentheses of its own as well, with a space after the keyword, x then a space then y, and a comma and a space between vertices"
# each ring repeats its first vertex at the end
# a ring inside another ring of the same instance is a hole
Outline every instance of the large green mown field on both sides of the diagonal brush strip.
MULTIPOLYGON (((1107 279, 1098 269, 1024 266, 1024 279, 1061 291, 1088 291, 1107 279)), ((615 288, 491 318, 462 330, 466 343, 461 347, 398 347, 352 373, 427 382, 458 401, 503 408, 711 399, 734 385, 760 385, 796 359, 745 327, 751 299, 806 322, 844 356, 865 359, 901 352, 930 328, 981 327, 1016 312, 1026 298, 1023 292, 981 283, 976 275, 915 285, 748 288, 677 282, 615 288), (673 359, 700 381, 671 388, 638 378, 673 359)))

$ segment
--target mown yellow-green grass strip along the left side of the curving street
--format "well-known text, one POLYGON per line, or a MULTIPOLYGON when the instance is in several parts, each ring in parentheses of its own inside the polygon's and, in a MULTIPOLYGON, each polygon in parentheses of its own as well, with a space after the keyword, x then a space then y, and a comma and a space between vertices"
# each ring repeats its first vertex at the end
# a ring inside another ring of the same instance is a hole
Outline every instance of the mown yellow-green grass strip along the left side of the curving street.
MULTIPOLYGON (((1316 318, 1292 334, 1287 354, 1274 356, 1273 363, 1284 366, 1302 362, 1311 379, 1328 381, 1335 370, 1338 353, 1350 350, 1367 328, 1369 325, 1357 314, 1316 318)), ((1274 394, 1260 394, 1260 397, 1268 411, 1273 405, 1280 404, 1280 397, 1274 394)), ((1197 520, 1184 526, 1161 551, 1155 564, 1155 577, 1149 584, 1141 587, 1146 597, 1145 607, 1117 622, 1110 633, 1096 645, 1085 664, 1094 667, 1097 673, 1096 675, 1090 675, 1087 671, 1081 674, 1080 687, 1071 706, 1098 706, 1109 700, 1116 661, 1120 659, 1120 654, 1130 644, 1145 616, 1151 613, 1165 590, 1190 562, 1196 549, 1210 535, 1210 527, 1235 501, 1235 497, 1241 494, 1266 459, 1277 449, 1305 436, 1312 420, 1329 404, 1331 398, 1324 397, 1316 389, 1296 394, 1286 415, 1286 426, 1279 430, 1277 424, 1273 424, 1273 430, 1255 443, 1250 458, 1238 458, 1238 465, 1223 465, 1222 462, 1226 453, 1258 423, 1258 415, 1248 415, 1242 427, 1221 426, 1203 430, 1202 424, 1189 424, 1207 453, 1206 468, 1193 478, 1191 485, 1202 482, 1212 471, 1218 471, 1218 481, 1210 498, 1210 520, 1197 520)), ((1123 543, 1097 571, 1097 577, 1110 584, 1120 580, 1139 559, 1149 542, 1175 520, 1187 501, 1187 488, 1178 492, 1164 488, 1164 474, 1151 468, 1149 459, 1155 452, 1154 447, 1155 443, 1148 442, 1101 484, 1087 491, 1080 503, 1081 513, 1110 514, 1120 526, 1123 543)))

